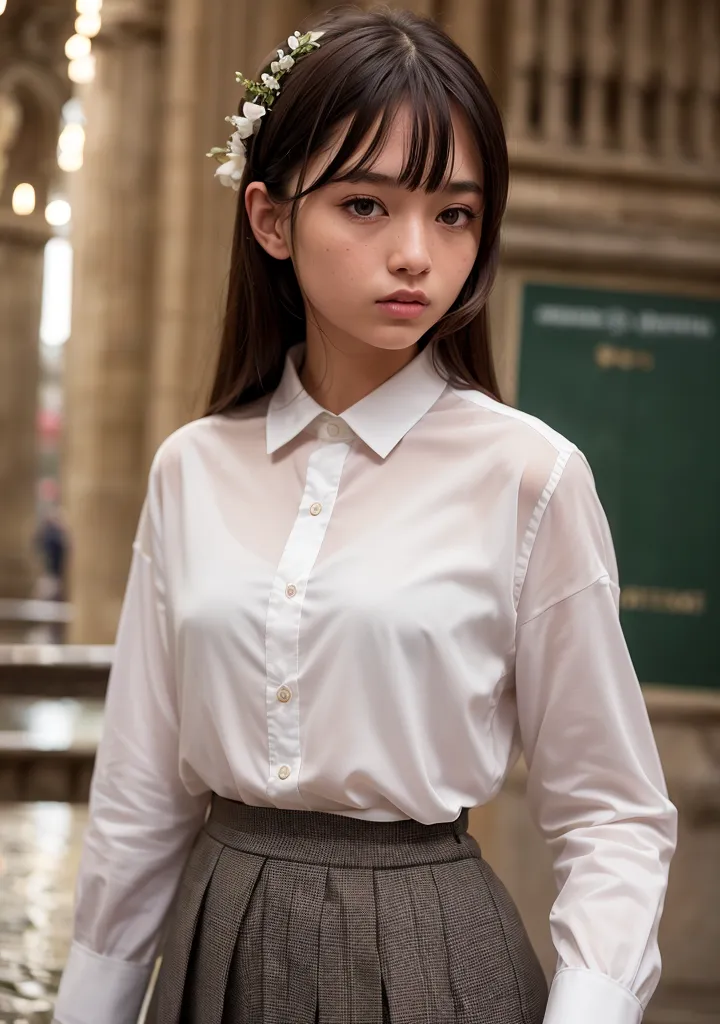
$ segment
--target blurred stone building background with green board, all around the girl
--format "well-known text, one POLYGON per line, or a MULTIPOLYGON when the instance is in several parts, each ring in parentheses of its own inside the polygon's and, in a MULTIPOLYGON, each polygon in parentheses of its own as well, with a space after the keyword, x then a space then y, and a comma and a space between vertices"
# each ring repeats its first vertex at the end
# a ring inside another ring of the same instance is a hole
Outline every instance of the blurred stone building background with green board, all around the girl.
MULTIPOLYGON (((0 1021, 50 1020, 150 460, 198 416, 234 73, 311 0, 0 0, 0 1021)), ((720 1022, 720 0, 414 0, 485 75, 512 184, 504 396, 589 457, 680 809, 650 1024, 720 1022)), ((612 737, 608 735, 608 744, 612 737)), ((518 765, 472 830, 548 972, 518 765)))

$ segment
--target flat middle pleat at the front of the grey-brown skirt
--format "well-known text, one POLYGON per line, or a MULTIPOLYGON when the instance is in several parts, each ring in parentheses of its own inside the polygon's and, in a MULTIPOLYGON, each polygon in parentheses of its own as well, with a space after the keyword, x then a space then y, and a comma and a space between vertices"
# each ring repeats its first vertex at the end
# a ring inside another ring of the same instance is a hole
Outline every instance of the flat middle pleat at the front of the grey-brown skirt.
POLYGON ((372 869, 329 868, 320 965, 319 1024, 382 1024, 372 869))

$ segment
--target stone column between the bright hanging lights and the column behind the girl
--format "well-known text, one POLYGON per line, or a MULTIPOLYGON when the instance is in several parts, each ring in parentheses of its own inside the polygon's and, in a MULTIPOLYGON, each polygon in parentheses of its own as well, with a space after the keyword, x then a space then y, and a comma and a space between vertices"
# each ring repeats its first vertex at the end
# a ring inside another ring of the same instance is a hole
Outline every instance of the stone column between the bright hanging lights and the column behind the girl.
POLYGON ((112 642, 142 500, 161 153, 160 0, 105 0, 74 196, 65 493, 75 642, 112 642))

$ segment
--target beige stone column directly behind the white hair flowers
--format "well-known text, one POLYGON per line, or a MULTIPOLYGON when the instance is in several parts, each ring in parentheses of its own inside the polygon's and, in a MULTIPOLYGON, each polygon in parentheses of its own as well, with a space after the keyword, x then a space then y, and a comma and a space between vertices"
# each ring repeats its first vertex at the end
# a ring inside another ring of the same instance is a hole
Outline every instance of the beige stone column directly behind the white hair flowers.
POLYGON ((308 0, 176 0, 165 71, 161 224, 153 394, 146 459, 201 415, 220 337, 237 203, 205 157, 227 137, 241 93, 235 72, 260 61, 301 28, 308 0))

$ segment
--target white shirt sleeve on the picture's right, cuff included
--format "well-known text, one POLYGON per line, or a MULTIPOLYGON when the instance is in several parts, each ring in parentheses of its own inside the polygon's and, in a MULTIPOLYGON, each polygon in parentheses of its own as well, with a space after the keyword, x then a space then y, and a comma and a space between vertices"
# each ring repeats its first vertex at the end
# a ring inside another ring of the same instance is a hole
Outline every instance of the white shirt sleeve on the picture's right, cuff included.
POLYGON ((620 625, 609 529, 580 454, 549 490, 516 637, 528 801, 558 888, 545 1021, 638 1024, 660 976, 676 811, 620 625))

